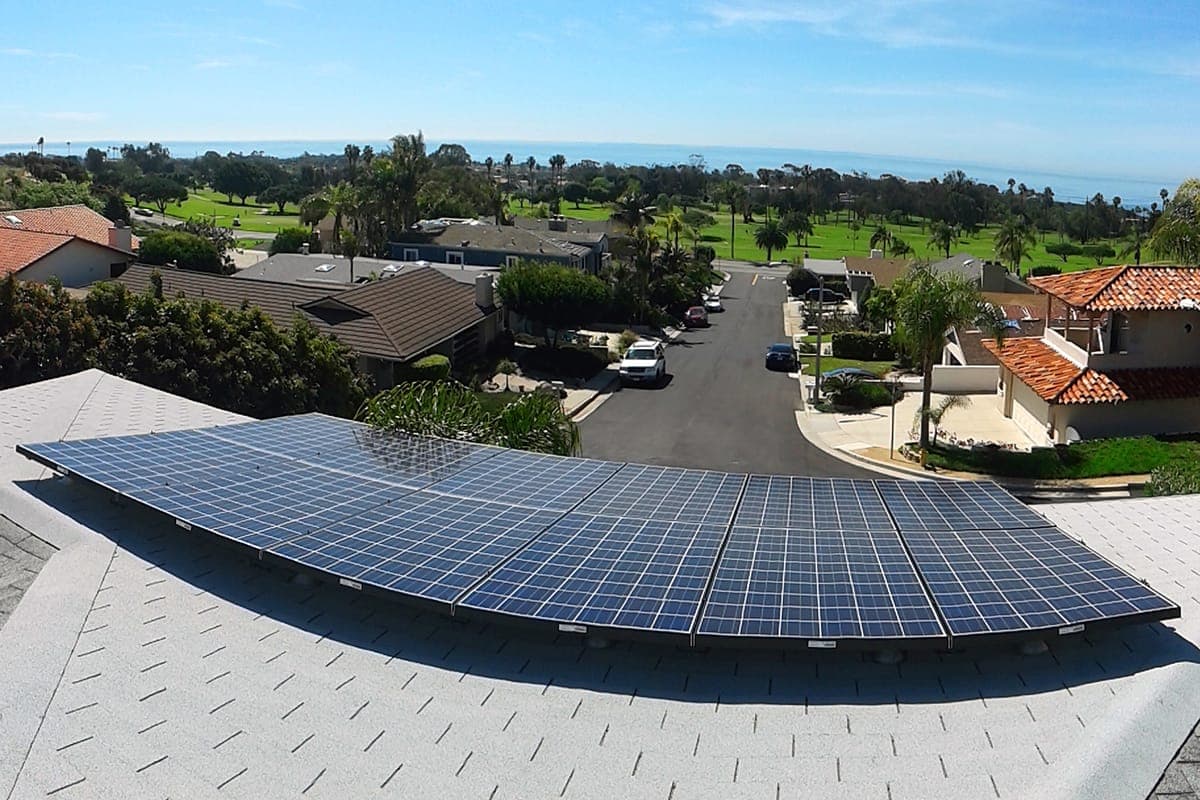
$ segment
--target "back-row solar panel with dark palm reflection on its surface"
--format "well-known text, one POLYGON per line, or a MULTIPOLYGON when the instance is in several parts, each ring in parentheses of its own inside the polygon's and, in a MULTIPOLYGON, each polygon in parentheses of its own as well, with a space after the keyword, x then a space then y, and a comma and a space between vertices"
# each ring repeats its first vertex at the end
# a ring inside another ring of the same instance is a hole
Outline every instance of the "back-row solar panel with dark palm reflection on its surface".
POLYGON ((467 441, 397 435, 324 414, 227 425, 203 433, 320 469, 414 489, 506 452, 467 441))

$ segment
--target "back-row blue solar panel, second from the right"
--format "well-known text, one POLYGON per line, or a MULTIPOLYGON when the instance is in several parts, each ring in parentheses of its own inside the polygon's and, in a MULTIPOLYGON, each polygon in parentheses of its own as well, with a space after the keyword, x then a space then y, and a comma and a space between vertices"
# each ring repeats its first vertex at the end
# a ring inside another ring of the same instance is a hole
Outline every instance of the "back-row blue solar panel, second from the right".
POLYGON ((734 525, 894 531, 872 481, 751 475, 734 525))

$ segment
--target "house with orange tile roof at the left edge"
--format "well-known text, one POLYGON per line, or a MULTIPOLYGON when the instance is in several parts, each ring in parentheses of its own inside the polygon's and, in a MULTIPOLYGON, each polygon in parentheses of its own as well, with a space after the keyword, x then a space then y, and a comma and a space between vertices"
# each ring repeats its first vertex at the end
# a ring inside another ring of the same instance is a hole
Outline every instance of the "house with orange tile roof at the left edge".
MULTIPOLYGON (((126 229, 127 230, 127 229, 126 229)), ((85 287, 120 275, 133 253, 61 233, 0 227, 0 277, 85 287)))

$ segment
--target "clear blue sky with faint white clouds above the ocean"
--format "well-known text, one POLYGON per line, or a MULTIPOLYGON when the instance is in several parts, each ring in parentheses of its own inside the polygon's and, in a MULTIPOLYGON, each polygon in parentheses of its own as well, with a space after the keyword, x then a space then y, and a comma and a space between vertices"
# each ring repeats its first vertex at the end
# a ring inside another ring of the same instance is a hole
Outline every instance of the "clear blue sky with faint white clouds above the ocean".
POLYGON ((0 0, 0 142, 518 139, 1195 173, 1194 1, 0 0))

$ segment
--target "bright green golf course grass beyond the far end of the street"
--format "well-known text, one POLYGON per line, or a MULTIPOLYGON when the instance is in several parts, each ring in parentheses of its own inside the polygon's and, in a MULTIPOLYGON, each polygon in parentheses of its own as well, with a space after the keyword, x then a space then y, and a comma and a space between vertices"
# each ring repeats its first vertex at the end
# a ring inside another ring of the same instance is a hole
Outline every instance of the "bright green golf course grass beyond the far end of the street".
MULTIPOLYGON (((580 210, 575 210, 574 204, 563 203, 562 211, 568 217, 575 217, 578 219, 607 219, 610 209, 606 205, 596 203, 582 203, 580 210)), ((509 204, 509 210, 514 215, 530 216, 532 207, 527 203, 522 209, 516 201, 509 204)), ((708 245, 716 251, 718 258, 730 258, 730 213, 728 209, 722 207, 720 212, 713 212, 708 209, 708 212, 716 217, 716 224, 709 225, 700 231, 701 243, 708 245)), ((774 212, 773 212, 774 213, 774 212)), ((748 261, 766 261, 766 251, 758 249, 754 243, 754 231, 757 229, 764 217, 756 217, 752 223, 742 222, 742 215, 737 215, 733 225, 733 248, 732 258, 748 260, 748 261)), ((665 235, 661 222, 656 223, 656 229, 659 235, 665 235)), ((839 222, 834 222, 834 217, 830 215, 828 222, 824 224, 816 222, 814 224, 815 230, 808 239, 808 246, 797 246, 796 240, 792 239, 788 246, 782 251, 775 251, 770 254, 770 260, 788 260, 798 263, 804 259, 805 252, 811 258, 841 258, 844 255, 870 255, 871 247, 871 233, 875 230, 876 225, 866 224, 863 225, 857 233, 852 231, 846 224, 846 217, 842 215, 839 222)), ((929 231, 920 221, 913 221, 910 224, 894 225, 888 224, 888 230, 892 231, 893 236, 899 236, 905 242, 907 242, 914 251, 914 257, 919 259, 938 260, 944 257, 944 253, 931 247, 929 243, 929 231)), ((995 237, 997 225, 991 225, 983 228, 974 236, 964 237, 956 245, 950 248, 952 253, 970 253, 979 258, 995 258, 995 237)), ((680 241, 686 241, 691 245, 690 239, 684 239, 680 241)), ((1044 237, 1039 234, 1037 243, 1031 248, 1032 258, 1021 261, 1021 271, 1026 272, 1031 266, 1044 266, 1052 265, 1062 269, 1064 272, 1073 272, 1076 270, 1094 269, 1096 261, 1090 258, 1084 258, 1081 255, 1072 255, 1067 259, 1064 264, 1057 255, 1051 255, 1046 253, 1045 245, 1054 243, 1058 241, 1057 234, 1048 234, 1044 237)), ((1121 246, 1116 242, 1108 242, 1112 245, 1114 249, 1121 249, 1121 246)), ((1111 264, 1123 264, 1127 260, 1122 258, 1112 258, 1104 261, 1105 265, 1111 264)))

